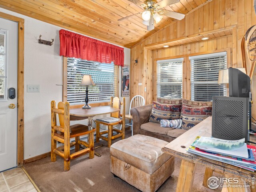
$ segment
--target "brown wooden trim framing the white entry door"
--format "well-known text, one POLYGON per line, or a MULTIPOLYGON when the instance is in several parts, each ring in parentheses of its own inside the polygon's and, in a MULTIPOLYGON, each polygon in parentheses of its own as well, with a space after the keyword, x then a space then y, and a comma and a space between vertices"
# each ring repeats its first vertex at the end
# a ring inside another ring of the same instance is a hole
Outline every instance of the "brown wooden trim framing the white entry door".
POLYGON ((18 23, 18 124, 17 164, 24 161, 24 19, 0 12, 0 18, 18 23))

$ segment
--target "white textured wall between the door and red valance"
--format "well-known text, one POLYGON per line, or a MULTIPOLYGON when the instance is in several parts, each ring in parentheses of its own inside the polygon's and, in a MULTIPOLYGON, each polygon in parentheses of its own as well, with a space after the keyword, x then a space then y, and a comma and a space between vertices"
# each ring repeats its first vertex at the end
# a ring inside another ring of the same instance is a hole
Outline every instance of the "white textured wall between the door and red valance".
MULTIPOLYGON (((2 8, 0 12, 25 19, 24 159, 28 159, 50 151, 50 102, 62 100, 62 86, 56 86, 62 84, 62 56, 59 56, 58 35, 62 28, 2 8), (54 44, 38 44, 40 34, 44 40, 54 38, 54 44), (28 93, 27 84, 39 84, 40 92, 28 93)), ((128 48, 124 48, 124 64, 130 65, 128 48)), ((127 112, 128 109, 129 97, 126 98, 127 112)))

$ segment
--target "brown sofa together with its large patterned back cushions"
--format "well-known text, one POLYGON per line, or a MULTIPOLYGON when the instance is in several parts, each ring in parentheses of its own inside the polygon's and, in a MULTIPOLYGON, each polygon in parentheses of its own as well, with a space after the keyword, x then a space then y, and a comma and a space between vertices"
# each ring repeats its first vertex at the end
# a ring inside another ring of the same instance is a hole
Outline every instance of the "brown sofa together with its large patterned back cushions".
POLYGON ((157 98, 153 104, 130 110, 133 134, 142 134, 171 142, 212 115, 212 102, 157 98), (152 109, 153 108, 153 109, 152 109), (181 119, 182 128, 161 127, 160 119, 181 119))

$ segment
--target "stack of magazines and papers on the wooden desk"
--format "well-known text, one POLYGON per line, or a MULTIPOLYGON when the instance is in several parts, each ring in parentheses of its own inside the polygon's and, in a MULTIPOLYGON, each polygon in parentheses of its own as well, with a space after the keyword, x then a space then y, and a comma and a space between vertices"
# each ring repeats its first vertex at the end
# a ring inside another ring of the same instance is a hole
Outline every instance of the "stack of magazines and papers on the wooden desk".
POLYGON ((240 140, 223 140, 197 136, 188 152, 212 160, 224 162, 246 170, 256 170, 256 146, 246 145, 240 140))

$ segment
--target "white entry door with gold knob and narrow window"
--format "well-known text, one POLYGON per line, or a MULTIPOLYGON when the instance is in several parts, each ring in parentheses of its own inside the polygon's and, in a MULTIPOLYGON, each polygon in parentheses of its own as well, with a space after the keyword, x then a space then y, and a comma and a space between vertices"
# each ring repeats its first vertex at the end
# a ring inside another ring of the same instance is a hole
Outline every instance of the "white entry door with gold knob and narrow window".
POLYGON ((0 18, 0 171, 17 166, 17 72, 18 23, 0 18))

